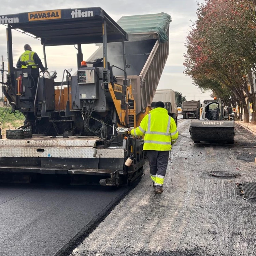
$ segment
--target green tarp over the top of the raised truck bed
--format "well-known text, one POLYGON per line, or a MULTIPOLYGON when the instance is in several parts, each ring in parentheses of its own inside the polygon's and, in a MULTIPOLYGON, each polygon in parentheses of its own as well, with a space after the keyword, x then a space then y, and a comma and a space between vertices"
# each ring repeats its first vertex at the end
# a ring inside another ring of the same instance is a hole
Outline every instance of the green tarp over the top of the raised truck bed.
MULTIPOLYGON (((168 29, 172 18, 167 13, 124 16, 117 21, 128 34, 155 34, 161 43, 168 41, 168 29)), ((146 39, 146 38, 145 38, 146 39)), ((130 41, 130 40, 129 40, 130 41)))

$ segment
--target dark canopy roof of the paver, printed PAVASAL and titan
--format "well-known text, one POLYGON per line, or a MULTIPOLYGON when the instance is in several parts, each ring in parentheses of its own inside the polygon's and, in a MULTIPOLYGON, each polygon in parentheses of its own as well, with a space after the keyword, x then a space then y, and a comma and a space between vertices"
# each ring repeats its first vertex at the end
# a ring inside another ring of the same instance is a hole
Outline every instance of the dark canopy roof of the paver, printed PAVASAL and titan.
POLYGON ((41 38, 45 46, 102 43, 103 21, 106 22, 108 42, 120 42, 123 38, 128 41, 128 34, 100 7, 0 16, 0 24, 41 38))

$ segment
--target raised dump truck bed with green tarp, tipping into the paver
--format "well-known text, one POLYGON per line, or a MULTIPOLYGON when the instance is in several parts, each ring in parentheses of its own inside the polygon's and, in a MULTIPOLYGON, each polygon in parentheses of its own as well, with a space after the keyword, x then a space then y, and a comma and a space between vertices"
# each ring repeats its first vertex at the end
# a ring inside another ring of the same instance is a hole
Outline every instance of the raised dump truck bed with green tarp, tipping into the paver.
MULTIPOLYGON (((169 55, 169 25, 171 16, 166 13, 125 16, 117 21, 129 35, 125 42, 127 79, 132 85, 136 101, 136 114, 150 106, 163 68, 169 55)), ((122 66, 122 43, 108 43, 110 65, 122 66)), ((102 58, 102 46, 88 59, 102 58)), ((123 84, 122 70, 113 68, 119 84, 123 84)))

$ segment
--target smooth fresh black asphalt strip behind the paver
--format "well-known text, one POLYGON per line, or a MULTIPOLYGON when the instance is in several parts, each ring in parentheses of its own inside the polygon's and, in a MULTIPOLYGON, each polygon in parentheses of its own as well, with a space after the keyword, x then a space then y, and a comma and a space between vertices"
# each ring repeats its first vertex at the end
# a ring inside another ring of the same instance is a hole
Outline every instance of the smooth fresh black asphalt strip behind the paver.
POLYGON ((128 188, 0 184, 0 255, 55 255, 128 188))

